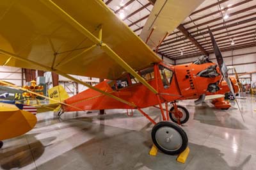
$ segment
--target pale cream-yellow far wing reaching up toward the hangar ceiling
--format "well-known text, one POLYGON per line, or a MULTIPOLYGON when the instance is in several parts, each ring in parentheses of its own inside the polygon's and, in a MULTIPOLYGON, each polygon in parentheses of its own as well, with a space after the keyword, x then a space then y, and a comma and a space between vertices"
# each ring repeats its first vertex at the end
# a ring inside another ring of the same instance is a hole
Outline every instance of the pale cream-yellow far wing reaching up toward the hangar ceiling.
POLYGON ((152 49, 159 45, 166 33, 172 33, 204 0, 157 0, 143 27, 140 38, 147 40, 152 28, 154 31, 147 42, 152 49))

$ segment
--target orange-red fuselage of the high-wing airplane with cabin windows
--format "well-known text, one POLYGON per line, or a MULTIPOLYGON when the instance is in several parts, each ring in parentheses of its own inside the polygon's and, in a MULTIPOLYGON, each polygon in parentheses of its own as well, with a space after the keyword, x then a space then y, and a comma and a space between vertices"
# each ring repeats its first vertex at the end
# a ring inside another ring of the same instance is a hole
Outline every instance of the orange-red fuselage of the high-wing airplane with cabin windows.
MULTIPOLYGON (((177 66, 160 62, 140 70, 138 73, 158 91, 157 95, 161 102, 198 98, 207 91, 216 92, 219 90, 218 84, 221 79, 220 69, 211 62, 177 66)), ((135 104, 138 108, 159 104, 156 94, 129 73, 125 73, 115 81, 100 82, 95 87, 135 104)), ((134 108, 93 89, 86 89, 68 98, 65 102, 82 110, 134 108)), ((63 105, 63 110, 77 111, 75 107, 63 105)))

